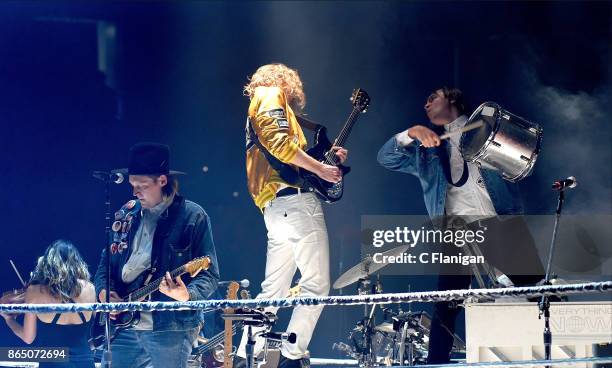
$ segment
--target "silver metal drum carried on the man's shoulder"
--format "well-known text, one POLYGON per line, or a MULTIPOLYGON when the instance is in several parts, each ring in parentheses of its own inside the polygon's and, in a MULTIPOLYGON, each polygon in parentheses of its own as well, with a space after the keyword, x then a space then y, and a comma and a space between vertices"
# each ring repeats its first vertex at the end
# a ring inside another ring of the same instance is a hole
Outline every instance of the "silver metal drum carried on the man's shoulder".
POLYGON ((460 151, 464 160, 501 172, 502 177, 517 182, 535 166, 542 146, 542 128, 504 110, 495 102, 485 102, 470 116, 466 125, 482 126, 461 135, 460 151))

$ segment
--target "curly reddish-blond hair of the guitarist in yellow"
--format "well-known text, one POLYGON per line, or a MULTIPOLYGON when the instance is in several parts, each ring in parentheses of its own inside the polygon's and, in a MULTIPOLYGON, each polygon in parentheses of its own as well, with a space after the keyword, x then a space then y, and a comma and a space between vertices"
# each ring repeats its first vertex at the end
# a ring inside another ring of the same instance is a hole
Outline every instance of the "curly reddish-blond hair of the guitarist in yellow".
POLYGON ((253 97, 257 87, 279 87, 285 92, 292 108, 301 111, 306 106, 306 96, 300 75, 297 70, 285 64, 275 63, 260 66, 248 80, 249 83, 244 86, 244 95, 249 98, 253 97))

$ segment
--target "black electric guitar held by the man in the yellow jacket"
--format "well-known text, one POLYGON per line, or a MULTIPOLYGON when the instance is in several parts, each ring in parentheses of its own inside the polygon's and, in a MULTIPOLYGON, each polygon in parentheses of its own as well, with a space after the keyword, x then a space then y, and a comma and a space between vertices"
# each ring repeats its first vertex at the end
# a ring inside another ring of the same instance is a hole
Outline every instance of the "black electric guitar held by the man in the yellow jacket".
POLYGON ((315 129, 314 146, 306 151, 308 155, 319 162, 337 166, 342 171, 343 178, 337 183, 330 183, 319 178, 316 174, 308 170, 299 170, 299 174, 304 180, 305 186, 312 188, 312 191, 314 191, 323 201, 327 203, 334 203, 342 198, 342 194, 344 192, 344 175, 348 174, 350 171, 349 167, 340 164, 336 153, 332 151, 331 148, 333 145, 344 147, 344 144, 346 143, 348 136, 351 133, 351 129, 353 129, 353 126, 359 117, 359 114, 367 110, 368 105, 370 104, 370 96, 368 96, 366 91, 358 88, 353 91, 351 101, 353 104, 353 110, 344 123, 342 130, 340 130, 340 133, 334 140, 334 143, 332 144, 329 138, 327 138, 327 128, 319 125, 315 129))

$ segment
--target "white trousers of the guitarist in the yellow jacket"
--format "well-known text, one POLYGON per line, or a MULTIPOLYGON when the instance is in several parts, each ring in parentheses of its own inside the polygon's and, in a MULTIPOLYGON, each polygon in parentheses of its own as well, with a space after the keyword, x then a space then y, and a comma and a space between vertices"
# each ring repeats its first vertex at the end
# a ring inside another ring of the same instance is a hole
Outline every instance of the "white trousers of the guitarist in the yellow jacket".
MULTIPOLYGON (((285 298, 296 269, 300 270, 300 296, 329 294, 329 242, 323 208, 313 193, 302 193, 272 200, 264 210, 268 229, 266 275, 257 298, 285 298)), ((276 313, 278 308, 267 308, 276 313)), ((295 333, 295 344, 283 343, 281 353, 290 359, 302 358, 312 338, 323 306, 293 308, 287 327, 295 333)), ((242 335, 238 356, 245 356, 247 329, 242 335)), ((255 331, 255 329, 253 330, 255 331)), ((257 355, 263 339, 255 344, 257 355)))

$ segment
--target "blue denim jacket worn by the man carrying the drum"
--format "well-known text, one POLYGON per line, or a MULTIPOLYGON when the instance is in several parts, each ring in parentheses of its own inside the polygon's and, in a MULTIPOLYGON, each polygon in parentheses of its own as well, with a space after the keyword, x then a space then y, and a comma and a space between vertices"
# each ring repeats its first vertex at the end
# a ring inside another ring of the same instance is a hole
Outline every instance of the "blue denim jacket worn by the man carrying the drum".
MULTIPOLYGON (((416 176, 423 188, 425 206, 431 218, 443 216, 446 202, 447 180, 442 168, 439 150, 447 149, 446 142, 439 147, 419 147, 417 140, 402 147, 395 136, 378 151, 378 162, 385 168, 416 176)), ((520 215, 523 204, 517 184, 502 179, 492 170, 480 168, 487 191, 498 215, 520 215)))

